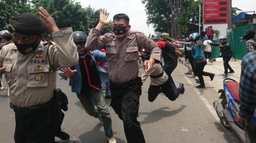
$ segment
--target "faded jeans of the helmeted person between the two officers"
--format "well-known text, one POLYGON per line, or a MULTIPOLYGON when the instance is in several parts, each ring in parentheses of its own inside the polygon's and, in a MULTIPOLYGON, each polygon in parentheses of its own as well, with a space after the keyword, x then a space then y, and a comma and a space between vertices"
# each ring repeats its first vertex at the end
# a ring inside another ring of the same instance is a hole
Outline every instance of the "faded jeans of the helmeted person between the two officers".
POLYGON ((102 91, 92 89, 91 93, 76 94, 81 104, 83 105, 86 113, 95 118, 102 118, 105 136, 108 138, 113 137, 112 120, 103 99, 102 91))

